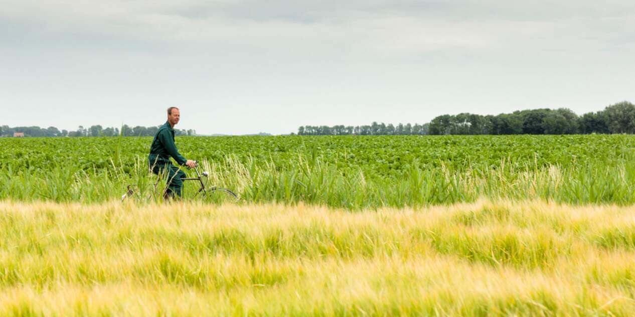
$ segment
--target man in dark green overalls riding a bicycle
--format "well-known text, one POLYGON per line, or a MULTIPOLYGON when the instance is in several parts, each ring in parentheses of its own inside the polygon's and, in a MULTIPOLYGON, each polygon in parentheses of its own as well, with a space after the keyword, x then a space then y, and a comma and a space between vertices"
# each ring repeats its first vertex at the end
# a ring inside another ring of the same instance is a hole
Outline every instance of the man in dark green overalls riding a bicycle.
POLYGON ((148 161, 150 163, 150 169, 152 173, 160 174, 167 173, 168 175, 168 189, 165 192, 164 197, 174 198, 174 194, 181 197, 181 189, 183 187, 182 177, 185 177, 185 173, 177 166, 172 165, 170 157, 177 161, 178 165, 187 165, 191 168, 196 166, 196 163, 191 159, 185 159, 177 151, 177 146, 174 144, 174 126, 181 118, 181 114, 177 107, 168 108, 168 122, 159 127, 152 145, 150 145, 150 155, 148 161))

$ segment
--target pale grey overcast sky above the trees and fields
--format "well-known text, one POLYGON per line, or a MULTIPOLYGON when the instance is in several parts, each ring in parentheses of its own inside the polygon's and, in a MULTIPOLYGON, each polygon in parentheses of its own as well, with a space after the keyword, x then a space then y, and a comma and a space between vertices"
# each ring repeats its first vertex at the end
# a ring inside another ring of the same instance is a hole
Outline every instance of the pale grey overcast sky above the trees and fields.
POLYGON ((632 0, 0 3, 0 125, 283 134, 635 102, 632 0), (7 115, 8 114, 8 115, 7 115))

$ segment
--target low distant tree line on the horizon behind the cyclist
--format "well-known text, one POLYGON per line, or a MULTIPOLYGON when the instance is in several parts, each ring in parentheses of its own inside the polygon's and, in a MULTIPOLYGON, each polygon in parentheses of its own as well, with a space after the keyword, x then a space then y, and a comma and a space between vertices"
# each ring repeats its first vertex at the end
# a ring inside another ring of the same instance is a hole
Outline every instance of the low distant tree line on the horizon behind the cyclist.
MULTIPOLYGON (((40 128, 39 126, 16 126, 10 128, 7 125, 0 126, 1 137, 13 137, 13 133, 24 133, 25 137, 153 137, 161 126, 128 126, 119 128, 103 128, 93 125, 88 128, 79 126, 75 131, 59 130, 55 126, 40 128)), ((174 130, 175 135, 196 135, 196 130, 174 130)))

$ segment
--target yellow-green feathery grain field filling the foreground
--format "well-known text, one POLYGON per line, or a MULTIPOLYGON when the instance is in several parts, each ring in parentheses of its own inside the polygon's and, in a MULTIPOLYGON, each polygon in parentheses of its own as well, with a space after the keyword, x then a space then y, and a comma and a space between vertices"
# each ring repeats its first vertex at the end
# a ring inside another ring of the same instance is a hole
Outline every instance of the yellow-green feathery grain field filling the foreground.
POLYGON ((0 202, 1 315, 635 311, 635 208, 0 202))

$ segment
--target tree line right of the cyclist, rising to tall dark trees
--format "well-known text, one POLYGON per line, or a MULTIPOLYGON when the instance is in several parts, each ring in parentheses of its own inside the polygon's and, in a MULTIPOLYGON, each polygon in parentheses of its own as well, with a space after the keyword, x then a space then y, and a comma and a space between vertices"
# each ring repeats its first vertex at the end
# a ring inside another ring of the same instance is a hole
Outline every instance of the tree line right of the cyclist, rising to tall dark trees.
POLYGON ((423 125, 300 126, 298 135, 511 135, 635 133, 635 105, 618 102, 578 116, 570 109, 531 109, 497 116, 444 114, 423 125))

